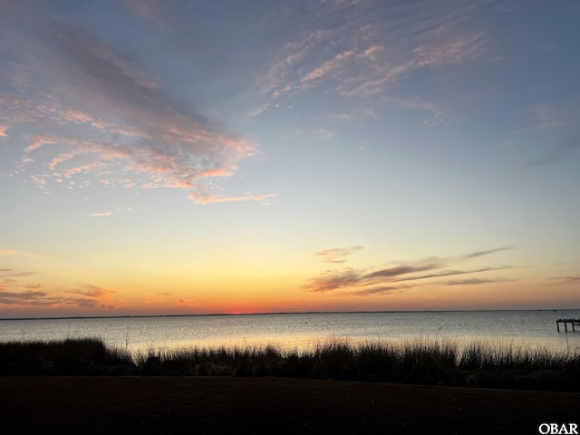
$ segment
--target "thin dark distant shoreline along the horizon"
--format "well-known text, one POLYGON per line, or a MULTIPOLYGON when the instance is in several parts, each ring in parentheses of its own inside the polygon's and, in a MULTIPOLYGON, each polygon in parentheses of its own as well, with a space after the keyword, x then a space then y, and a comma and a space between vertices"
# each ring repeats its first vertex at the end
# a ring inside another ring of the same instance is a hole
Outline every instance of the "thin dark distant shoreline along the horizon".
POLYGON ((506 312, 546 312, 576 311, 579 308, 536 308, 536 309, 474 309, 474 310, 379 310, 379 311, 305 311, 305 312, 267 312, 267 313, 211 313, 211 314, 138 314, 138 315, 74 315, 63 317, 2 317, 5 320, 75 320, 75 319, 139 319, 160 317, 204 317, 204 316, 243 316, 243 315, 304 315, 304 314, 379 314, 379 313, 506 313, 506 312))

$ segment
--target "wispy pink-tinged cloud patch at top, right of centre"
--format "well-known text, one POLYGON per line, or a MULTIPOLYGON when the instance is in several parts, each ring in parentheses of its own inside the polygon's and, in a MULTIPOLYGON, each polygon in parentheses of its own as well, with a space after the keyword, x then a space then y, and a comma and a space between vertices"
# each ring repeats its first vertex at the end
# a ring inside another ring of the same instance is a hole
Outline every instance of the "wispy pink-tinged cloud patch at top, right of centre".
POLYGON ((381 1, 312 6, 311 25, 280 48, 261 77, 260 91, 266 100, 314 86, 369 97, 389 91, 411 72, 489 62, 490 36, 478 20, 480 7, 487 6, 381 1))

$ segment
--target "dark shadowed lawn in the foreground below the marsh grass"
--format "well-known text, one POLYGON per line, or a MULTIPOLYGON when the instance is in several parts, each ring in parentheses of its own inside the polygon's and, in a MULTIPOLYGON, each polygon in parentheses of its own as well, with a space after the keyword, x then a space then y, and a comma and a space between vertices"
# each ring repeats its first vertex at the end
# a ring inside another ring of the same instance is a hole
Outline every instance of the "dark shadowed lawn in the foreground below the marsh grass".
POLYGON ((0 433, 536 434, 580 394, 286 378, 0 377, 0 433))

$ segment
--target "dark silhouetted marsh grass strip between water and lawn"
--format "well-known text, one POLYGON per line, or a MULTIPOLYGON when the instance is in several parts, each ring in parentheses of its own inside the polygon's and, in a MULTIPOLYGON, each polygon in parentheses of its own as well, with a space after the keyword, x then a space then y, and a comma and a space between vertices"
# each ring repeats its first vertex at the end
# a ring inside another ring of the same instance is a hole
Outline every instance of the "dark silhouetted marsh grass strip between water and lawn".
POLYGON ((0 374, 284 376, 528 390, 580 391, 580 357, 546 347, 419 337, 403 343, 329 339, 129 353, 97 338, 0 343, 0 374))

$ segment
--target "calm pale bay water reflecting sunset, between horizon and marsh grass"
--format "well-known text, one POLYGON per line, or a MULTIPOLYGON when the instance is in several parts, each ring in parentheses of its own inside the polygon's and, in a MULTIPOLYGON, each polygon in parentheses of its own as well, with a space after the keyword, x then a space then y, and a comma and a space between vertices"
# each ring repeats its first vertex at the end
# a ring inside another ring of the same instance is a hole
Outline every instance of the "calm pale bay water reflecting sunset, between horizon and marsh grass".
POLYGON ((0 320, 0 341, 99 337, 130 351, 274 344, 305 350, 329 339, 350 343, 417 338, 460 343, 547 346, 580 352, 580 331, 558 333, 556 320, 580 310, 415 313, 248 314, 0 320))

